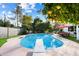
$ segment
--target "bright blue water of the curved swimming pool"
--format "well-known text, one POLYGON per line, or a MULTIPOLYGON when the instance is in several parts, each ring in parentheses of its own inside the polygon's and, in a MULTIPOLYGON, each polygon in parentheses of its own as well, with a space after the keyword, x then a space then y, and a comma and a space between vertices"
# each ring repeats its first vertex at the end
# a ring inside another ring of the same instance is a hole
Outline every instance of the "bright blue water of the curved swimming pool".
POLYGON ((28 34, 20 42, 21 46, 26 48, 34 48, 37 39, 43 39, 45 48, 50 48, 55 46, 60 47, 63 42, 54 38, 51 34, 38 33, 38 34, 28 34))

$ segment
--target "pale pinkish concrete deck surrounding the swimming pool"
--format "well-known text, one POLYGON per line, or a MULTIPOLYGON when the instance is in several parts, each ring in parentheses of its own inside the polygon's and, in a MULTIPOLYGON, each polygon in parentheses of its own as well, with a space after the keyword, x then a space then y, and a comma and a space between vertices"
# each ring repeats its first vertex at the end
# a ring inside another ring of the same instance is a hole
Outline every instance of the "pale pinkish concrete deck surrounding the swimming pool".
MULTIPOLYGON (((32 56, 33 49, 27 49, 20 46, 20 40, 23 36, 8 39, 7 42, 0 47, 1 56, 32 56)), ((41 56, 79 56, 79 44, 68 39, 62 38, 58 35, 54 37, 60 39, 64 45, 59 48, 50 48, 46 50, 45 54, 41 56)), ((38 53, 40 56, 40 54, 38 53)))

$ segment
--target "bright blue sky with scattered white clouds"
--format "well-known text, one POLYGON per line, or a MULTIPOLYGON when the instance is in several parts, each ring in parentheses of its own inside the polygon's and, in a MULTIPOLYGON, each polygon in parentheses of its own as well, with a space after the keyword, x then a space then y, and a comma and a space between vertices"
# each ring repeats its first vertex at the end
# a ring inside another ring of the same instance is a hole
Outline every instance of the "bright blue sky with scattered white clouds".
MULTIPOLYGON (((32 16, 33 19, 38 16, 42 20, 45 20, 44 16, 37 12, 44 7, 41 3, 21 3, 20 6, 22 7, 23 14, 27 13, 28 15, 32 16)), ((0 18, 3 18, 4 13, 7 15, 7 17, 14 17, 15 15, 12 13, 12 11, 15 9, 16 3, 0 4, 0 18)), ((10 21, 13 22, 13 20, 10 21)))

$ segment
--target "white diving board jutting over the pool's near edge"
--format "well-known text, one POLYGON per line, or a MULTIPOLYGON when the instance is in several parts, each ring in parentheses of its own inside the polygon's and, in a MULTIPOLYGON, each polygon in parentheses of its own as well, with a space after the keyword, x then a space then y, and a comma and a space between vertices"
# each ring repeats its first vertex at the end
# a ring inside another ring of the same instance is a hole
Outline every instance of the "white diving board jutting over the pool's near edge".
POLYGON ((37 39, 35 48, 33 50, 33 56, 43 56, 46 55, 46 50, 43 44, 43 39, 37 39))

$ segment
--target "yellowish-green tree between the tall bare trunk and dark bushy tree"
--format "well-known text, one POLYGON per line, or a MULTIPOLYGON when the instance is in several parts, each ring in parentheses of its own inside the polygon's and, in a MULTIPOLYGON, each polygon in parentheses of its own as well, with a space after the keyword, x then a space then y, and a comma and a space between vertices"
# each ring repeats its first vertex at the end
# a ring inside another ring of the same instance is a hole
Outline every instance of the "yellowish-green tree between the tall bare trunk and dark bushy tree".
POLYGON ((26 34, 27 32, 29 32, 32 28, 31 24, 32 24, 32 17, 23 15, 22 29, 21 29, 20 34, 26 34))

